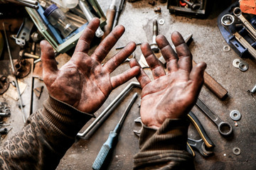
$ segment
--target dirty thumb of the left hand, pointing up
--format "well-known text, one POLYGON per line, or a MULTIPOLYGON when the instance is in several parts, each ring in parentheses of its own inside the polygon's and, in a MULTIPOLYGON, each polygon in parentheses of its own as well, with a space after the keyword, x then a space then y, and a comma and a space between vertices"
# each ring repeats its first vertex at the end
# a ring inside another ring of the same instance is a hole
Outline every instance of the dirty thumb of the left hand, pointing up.
POLYGON ((43 64, 43 79, 58 71, 57 62, 53 52, 53 47, 46 40, 40 42, 41 60, 43 64))

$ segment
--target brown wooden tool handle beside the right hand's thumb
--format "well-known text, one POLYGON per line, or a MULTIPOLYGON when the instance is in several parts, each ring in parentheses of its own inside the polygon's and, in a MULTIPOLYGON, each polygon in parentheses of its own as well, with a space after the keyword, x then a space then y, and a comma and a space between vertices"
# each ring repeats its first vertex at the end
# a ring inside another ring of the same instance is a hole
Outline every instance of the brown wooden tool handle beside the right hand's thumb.
MULTIPOLYGON (((193 61, 193 66, 196 65, 196 62, 193 61)), ((228 91, 221 86, 213 77, 211 77, 207 72, 204 72, 203 74, 203 79, 204 79, 204 85, 210 89, 210 91, 213 92, 218 98, 223 100, 225 96, 227 96, 228 91)))

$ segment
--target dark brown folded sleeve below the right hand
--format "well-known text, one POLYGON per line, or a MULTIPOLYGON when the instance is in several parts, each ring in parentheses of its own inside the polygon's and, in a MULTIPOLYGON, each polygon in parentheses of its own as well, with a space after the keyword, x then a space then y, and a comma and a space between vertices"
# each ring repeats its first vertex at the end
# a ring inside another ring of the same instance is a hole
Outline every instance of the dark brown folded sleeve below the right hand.
POLYGON ((186 152, 188 125, 186 120, 166 119, 159 130, 144 126, 134 169, 194 169, 193 157, 186 152))

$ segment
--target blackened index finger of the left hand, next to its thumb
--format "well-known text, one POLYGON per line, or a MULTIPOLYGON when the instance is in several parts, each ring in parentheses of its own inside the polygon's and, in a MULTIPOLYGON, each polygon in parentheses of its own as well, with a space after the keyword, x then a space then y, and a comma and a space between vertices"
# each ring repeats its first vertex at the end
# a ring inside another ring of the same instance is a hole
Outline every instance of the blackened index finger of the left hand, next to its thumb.
POLYGON ((78 40, 78 45, 75 47, 75 52, 85 52, 87 53, 90 49, 90 43, 92 42, 92 38, 95 35, 95 31, 100 26, 99 18, 93 18, 90 23, 87 25, 85 30, 82 32, 78 40))

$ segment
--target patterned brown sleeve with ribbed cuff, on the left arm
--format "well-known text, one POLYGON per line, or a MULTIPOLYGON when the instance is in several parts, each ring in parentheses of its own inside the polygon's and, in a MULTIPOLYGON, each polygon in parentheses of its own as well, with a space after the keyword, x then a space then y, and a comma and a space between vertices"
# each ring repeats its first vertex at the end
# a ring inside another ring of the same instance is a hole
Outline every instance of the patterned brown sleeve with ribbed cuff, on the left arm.
POLYGON ((55 169, 92 114, 49 97, 0 149, 1 169, 55 169))

